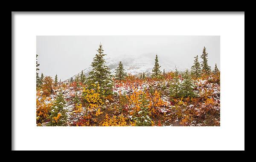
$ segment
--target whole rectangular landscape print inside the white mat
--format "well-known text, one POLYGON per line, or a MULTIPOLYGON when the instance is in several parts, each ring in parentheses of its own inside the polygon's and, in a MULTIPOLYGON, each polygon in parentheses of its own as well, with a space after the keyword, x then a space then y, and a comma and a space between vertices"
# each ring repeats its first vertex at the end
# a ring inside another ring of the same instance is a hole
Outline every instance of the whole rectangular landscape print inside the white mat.
POLYGON ((37 126, 220 126, 220 36, 37 36, 37 126))

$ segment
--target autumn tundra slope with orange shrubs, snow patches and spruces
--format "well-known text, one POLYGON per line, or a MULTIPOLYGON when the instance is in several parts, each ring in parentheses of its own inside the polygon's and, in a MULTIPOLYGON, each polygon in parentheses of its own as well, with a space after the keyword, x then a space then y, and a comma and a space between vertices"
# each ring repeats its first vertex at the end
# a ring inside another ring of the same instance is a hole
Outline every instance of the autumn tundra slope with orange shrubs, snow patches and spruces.
POLYGON ((89 75, 64 82, 39 77, 36 55, 38 126, 220 126, 220 71, 205 47, 182 72, 160 71, 156 55, 147 77, 126 74, 122 60, 111 75, 105 55, 100 44, 89 75))

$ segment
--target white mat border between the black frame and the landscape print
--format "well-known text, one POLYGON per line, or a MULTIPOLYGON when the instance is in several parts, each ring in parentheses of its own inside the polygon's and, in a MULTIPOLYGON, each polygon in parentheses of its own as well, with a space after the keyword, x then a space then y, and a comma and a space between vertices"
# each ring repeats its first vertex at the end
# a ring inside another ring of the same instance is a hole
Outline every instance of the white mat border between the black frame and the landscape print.
POLYGON ((17 12, 13 19, 14 150, 244 150, 244 13, 17 12), (221 126, 37 127, 35 52, 38 35, 219 35, 221 126))

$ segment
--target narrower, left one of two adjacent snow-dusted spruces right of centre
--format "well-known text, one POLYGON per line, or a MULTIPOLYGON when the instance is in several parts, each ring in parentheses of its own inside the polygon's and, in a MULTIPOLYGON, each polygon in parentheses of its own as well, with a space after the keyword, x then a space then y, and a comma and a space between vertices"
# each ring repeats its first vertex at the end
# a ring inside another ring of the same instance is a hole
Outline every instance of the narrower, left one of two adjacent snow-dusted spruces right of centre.
POLYGON ((175 66, 175 73, 172 79, 172 83, 170 83, 170 96, 171 97, 180 97, 181 89, 180 89, 180 79, 179 72, 175 66))

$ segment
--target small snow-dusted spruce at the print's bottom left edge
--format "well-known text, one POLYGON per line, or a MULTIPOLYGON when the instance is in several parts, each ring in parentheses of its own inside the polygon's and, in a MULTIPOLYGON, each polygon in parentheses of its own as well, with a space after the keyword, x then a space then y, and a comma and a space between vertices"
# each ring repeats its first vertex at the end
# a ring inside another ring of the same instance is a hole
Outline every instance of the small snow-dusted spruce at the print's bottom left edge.
POLYGON ((51 115, 49 116, 49 123, 47 126, 66 126, 67 125, 67 111, 64 109, 65 99, 62 94, 58 94, 54 105, 51 108, 51 115))

